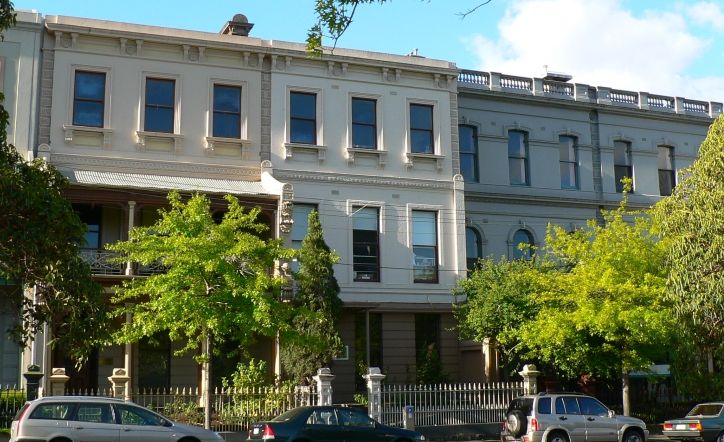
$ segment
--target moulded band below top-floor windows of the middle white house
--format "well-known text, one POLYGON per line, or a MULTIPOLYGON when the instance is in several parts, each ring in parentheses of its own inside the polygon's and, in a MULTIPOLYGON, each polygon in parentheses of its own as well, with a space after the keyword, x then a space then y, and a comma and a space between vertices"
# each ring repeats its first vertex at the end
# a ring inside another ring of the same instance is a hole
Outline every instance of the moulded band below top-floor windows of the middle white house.
POLYGON ((452 177, 450 177, 449 181, 435 181, 280 169, 274 171, 274 177, 281 181, 309 181, 412 189, 453 190, 452 177))

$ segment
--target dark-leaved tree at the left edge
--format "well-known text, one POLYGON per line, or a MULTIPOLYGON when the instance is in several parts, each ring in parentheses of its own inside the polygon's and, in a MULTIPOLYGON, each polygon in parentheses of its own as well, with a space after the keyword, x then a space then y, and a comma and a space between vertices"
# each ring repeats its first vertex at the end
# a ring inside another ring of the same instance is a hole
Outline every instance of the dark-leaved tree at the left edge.
MULTIPOLYGON (((14 25, 12 3, 0 1, 0 32, 14 25)), ((27 345, 48 324, 50 343, 82 362, 106 330, 102 288, 80 257, 86 227, 63 196, 67 180, 8 143, 9 118, 0 106, 0 278, 19 285, 5 293, 22 311, 13 335, 27 345)))

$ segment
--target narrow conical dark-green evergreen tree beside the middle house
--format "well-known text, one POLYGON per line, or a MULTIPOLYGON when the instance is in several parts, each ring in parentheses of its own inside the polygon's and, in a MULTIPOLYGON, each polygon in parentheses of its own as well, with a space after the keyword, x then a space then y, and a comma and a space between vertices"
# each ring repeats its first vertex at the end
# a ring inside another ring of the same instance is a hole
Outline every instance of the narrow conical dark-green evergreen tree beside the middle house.
POLYGON ((317 211, 309 214, 309 229, 299 250, 299 271, 294 278, 297 291, 293 301, 296 339, 282 340, 281 361, 287 375, 308 383, 317 369, 339 354, 342 340, 337 324, 342 313, 334 264, 339 257, 324 241, 317 211))

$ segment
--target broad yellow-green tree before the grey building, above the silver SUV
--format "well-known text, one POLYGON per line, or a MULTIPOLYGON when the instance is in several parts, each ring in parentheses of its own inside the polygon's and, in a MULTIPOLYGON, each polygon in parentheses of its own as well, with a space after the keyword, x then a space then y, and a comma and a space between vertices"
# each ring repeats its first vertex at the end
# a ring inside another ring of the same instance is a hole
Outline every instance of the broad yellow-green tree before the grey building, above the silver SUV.
POLYGON ((478 338, 500 333, 520 359, 542 361, 569 378, 621 378, 628 414, 628 373, 662 356, 675 325, 663 246, 647 218, 626 211, 626 200, 604 212, 604 225, 592 220, 574 232, 550 226, 539 265, 481 267, 481 287, 468 290, 470 319, 463 324, 478 338), (502 302, 496 320, 494 302, 506 291, 512 300, 502 302), (476 299, 488 293, 490 300, 476 299))

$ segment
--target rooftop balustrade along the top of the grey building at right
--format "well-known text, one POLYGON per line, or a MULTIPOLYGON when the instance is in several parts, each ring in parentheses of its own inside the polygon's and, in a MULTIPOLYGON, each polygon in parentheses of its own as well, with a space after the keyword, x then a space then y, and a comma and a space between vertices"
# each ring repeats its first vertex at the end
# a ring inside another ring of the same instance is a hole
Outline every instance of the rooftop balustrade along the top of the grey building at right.
POLYGON ((542 78, 517 77, 498 72, 461 70, 458 75, 461 90, 478 89, 493 92, 546 96, 551 98, 583 101, 638 108, 656 112, 716 118, 722 115, 722 103, 690 100, 682 97, 654 95, 608 87, 592 87, 581 83, 567 83, 542 78))

